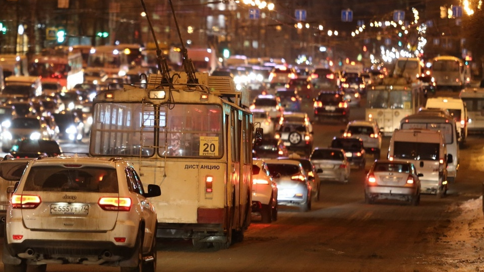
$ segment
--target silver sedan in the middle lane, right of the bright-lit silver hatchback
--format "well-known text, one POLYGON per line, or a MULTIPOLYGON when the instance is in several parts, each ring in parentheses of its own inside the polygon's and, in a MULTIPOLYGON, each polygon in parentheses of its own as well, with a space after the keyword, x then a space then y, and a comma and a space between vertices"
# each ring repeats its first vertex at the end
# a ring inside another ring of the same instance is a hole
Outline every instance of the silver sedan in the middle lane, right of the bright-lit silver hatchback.
POLYGON ((318 171, 321 181, 348 182, 351 167, 342 149, 315 148, 310 160, 317 171, 323 170, 323 172, 318 171))

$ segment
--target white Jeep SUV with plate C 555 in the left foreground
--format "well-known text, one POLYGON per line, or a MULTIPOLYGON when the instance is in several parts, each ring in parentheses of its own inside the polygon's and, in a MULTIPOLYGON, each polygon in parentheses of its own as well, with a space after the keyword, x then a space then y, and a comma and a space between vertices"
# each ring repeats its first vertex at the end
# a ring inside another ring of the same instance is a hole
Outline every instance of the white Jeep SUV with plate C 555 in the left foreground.
POLYGON ((131 164, 118 159, 32 160, 7 210, 5 271, 48 263, 156 270, 156 213, 131 164))

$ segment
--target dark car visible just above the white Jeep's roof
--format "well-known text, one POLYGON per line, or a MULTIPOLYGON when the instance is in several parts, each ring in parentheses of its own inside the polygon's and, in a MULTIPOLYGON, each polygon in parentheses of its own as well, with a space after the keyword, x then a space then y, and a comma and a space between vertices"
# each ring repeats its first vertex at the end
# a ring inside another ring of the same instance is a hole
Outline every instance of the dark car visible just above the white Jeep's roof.
POLYGON ((39 156, 55 157, 62 154, 59 143, 54 140, 24 139, 12 147, 14 158, 38 158, 39 156))

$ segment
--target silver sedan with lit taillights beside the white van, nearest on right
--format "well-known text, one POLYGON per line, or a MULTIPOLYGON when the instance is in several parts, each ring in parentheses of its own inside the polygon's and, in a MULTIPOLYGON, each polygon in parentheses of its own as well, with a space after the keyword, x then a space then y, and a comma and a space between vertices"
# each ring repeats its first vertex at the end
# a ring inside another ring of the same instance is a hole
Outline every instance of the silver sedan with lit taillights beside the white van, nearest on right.
POLYGON ((399 160, 377 160, 365 179, 365 202, 377 199, 408 201, 413 206, 420 202, 420 180, 413 163, 399 160))

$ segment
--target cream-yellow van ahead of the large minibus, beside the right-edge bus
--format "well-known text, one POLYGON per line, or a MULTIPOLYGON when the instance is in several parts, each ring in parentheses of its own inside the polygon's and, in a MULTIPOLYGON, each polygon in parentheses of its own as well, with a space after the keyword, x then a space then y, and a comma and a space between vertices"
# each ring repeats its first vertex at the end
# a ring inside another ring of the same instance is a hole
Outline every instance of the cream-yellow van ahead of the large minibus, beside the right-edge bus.
POLYGON ((428 109, 447 109, 455 120, 457 132, 459 133, 459 144, 462 146, 467 138, 467 108, 460 98, 454 97, 432 97, 427 99, 425 107, 428 109))

